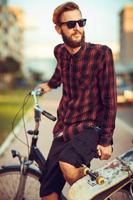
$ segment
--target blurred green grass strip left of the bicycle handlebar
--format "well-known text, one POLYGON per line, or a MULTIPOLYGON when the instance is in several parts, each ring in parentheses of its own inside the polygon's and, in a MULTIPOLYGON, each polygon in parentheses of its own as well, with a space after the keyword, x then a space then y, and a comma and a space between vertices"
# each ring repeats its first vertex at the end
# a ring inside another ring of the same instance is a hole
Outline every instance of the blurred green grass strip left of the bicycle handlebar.
MULTIPOLYGON (((23 105, 29 89, 13 89, 0 93, 0 144, 12 131, 12 121, 20 107, 23 105)), ((25 105, 25 112, 31 107, 31 99, 25 105)), ((21 119, 21 112, 16 118, 15 125, 21 119)))

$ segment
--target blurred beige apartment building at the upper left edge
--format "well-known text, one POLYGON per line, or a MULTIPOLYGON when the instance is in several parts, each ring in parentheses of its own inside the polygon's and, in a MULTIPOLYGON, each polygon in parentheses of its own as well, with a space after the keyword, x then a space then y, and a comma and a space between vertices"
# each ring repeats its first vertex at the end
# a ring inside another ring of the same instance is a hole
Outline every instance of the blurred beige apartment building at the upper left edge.
POLYGON ((23 63, 24 20, 23 11, 17 7, 0 5, 0 59, 12 57, 23 63))

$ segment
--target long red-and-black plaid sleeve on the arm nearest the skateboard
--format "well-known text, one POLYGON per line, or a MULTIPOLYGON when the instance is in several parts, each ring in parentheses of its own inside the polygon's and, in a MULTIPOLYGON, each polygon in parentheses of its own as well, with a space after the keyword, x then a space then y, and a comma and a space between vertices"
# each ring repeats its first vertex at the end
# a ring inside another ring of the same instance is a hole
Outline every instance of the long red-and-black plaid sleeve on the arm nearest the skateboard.
POLYGON ((100 137, 100 144, 113 144, 113 132, 115 128, 115 118, 117 110, 116 75, 112 51, 106 48, 103 67, 99 73, 99 85, 101 90, 101 100, 104 110, 103 134, 100 137))

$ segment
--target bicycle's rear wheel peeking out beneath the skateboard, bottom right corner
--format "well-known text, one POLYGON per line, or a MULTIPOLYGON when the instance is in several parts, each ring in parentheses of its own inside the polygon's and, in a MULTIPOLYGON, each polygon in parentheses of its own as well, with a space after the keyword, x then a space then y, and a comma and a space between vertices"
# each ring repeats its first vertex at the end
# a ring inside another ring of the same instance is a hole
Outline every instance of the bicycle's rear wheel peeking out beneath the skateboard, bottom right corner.
POLYGON ((128 190, 121 189, 114 193, 108 200, 133 200, 133 197, 128 190))

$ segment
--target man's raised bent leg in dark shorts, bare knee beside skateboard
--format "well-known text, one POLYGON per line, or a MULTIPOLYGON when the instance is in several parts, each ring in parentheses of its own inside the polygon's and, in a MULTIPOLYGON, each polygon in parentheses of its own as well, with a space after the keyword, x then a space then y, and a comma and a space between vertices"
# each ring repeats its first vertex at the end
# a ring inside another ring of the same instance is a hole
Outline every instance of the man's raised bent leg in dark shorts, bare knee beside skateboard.
POLYGON ((70 185, 84 176, 82 164, 90 166, 91 160, 97 156, 98 140, 95 129, 85 129, 83 133, 75 135, 60 154, 59 165, 70 185))

